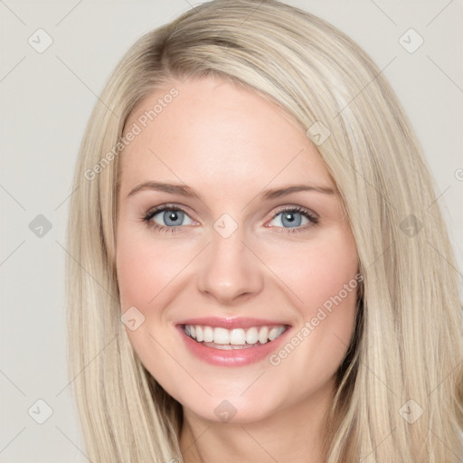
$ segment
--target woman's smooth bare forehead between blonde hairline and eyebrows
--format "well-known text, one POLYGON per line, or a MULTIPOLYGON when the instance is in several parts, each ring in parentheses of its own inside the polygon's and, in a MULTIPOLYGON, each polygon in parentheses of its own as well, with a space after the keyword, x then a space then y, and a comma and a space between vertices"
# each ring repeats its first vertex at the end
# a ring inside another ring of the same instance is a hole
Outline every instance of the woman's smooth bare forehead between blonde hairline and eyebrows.
POLYGON ((294 118, 225 80, 173 80, 137 105, 126 131, 134 125, 139 133, 120 155, 121 194, 153 179, 199 190, 270 182, 332 185, 316 146, 294 118))

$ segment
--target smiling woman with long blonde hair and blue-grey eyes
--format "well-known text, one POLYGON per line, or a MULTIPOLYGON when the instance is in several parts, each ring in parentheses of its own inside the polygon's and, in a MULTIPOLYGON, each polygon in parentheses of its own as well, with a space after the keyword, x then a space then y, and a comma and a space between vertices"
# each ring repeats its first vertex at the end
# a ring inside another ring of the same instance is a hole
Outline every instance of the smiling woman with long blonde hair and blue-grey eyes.
POLYGON ((67 288, 87 455, 458 461, 458 280, 419 143, 343 33, 257 6, 147 33, 90 118, 67 288))

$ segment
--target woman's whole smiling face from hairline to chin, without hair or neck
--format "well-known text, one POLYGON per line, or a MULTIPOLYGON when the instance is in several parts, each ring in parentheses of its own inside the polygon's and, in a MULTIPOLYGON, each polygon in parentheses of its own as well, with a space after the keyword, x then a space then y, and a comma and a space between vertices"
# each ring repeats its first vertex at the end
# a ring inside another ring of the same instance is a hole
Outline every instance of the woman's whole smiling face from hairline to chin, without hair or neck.
POLYGON ((140 361, 186 416, 321 416, 359 276, 316 147, 269 101, 213 78, 173 81, 126 127, 116 259, 140 361))

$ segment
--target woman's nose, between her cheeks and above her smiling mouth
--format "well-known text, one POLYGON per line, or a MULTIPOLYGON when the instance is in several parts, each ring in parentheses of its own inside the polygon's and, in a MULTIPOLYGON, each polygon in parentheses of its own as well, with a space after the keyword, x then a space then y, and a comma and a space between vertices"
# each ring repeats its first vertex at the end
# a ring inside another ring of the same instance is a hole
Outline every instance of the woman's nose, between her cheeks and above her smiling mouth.
POLYGON ((198 290, 222 305, 248 300, 263 288, 262 262, 243 241, 239 231, 228 238, 214 232, 197 273, 198 290))

